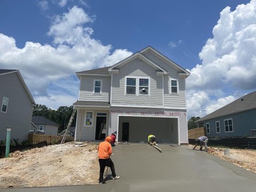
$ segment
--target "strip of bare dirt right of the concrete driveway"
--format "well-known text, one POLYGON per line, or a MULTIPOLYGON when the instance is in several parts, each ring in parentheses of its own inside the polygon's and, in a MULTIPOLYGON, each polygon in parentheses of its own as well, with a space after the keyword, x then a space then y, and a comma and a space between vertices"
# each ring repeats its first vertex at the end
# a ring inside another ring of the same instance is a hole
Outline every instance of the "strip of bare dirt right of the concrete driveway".
MULTIPOLYGON (((193 145, 189 145, 193 148, 193 145)), ((199 147, 197 147, 199 149, 199 147)), ((203 147, 204 149, 204 147, 203 147)), ((230 163, 243 167, 244 169, 256 173, 256 150, 253 149, 229 149, 230 154, 224 155, 224 148, 209 147, 208 153, 222 158, 230 163)))

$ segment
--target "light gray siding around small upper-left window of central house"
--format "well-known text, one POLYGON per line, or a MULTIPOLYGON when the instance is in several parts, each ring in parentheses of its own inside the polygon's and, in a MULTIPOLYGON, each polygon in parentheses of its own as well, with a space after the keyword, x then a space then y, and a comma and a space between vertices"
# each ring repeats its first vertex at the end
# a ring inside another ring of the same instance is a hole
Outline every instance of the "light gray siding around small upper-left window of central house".
POLYGON ((110 101, 111 77, 98 77, 98 76, 82 76, 79 92, 79 101, 110 101), (102 94, 93 94, 93 81, 94 79, 102 80, 102 94))

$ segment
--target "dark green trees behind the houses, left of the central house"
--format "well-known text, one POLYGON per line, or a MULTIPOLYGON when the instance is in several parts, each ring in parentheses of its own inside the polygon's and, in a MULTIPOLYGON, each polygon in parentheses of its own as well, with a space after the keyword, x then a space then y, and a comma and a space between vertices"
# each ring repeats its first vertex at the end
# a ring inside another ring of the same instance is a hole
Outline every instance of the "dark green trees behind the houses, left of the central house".
MULTIPOLYGON (((44 116, 52 122, 55 122, 59 125, 58 132, 67 129, 69 119, 74 110, 73 106, 61 106, 57 110, 52 108, 47 108, 45 105, 37 104, 33 110, 33 116, 44 116)), ((76 126, 76 114, 71 126, 76 126)))

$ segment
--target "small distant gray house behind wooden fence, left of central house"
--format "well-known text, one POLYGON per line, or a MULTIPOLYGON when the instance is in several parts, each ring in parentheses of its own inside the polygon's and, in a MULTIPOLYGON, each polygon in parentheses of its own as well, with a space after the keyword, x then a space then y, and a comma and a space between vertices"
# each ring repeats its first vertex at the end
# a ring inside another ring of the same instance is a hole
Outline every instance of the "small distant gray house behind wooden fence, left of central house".
MULTIPOLYGON (((49 135, 57 135, 58 134, 58 128, 59 126, 50 121, 49 119, 43 117, 43 116, 33 116, 32 117, 33 124, 37 127, 37 130, 49 135)), ((31 126, 34 127, 34 126, 31 126)), ((33 132, 34 129, 31 128, 31 132, 33 132)))

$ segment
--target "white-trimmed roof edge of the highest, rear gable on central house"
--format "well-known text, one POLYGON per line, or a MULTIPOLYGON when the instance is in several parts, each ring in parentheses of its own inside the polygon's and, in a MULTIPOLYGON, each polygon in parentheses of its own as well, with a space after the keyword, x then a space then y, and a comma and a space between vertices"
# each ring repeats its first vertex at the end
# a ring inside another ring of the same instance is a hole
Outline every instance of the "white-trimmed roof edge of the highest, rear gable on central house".
POLYGON ((186 75, 190 75, 190 72, 187 71, 186 69, 184 69, 183 67, 181 67, 180 65, 178 65, 177 63, 175 63, 174 61, 172 61, 171 59, 167 58, 165 55, 163 55, 162 53, 160 53, 159 51, 155 50, 153 47, 151 46, 147 46, 145 49, 141 50, 140 53, 144 53, 147 51, 151 51, 151 53, 153 53, 154 55, 156 55, 156 57, 158 57, 159 59, 162 59, 163 61, 169 63, 169 65, 171 65, 172 67, 176 68, 176 69, 180 69, 181 71, 183 71, 183 73, 186 73, 186 75))

